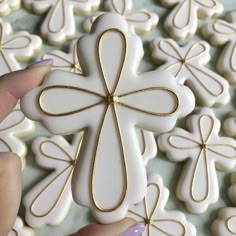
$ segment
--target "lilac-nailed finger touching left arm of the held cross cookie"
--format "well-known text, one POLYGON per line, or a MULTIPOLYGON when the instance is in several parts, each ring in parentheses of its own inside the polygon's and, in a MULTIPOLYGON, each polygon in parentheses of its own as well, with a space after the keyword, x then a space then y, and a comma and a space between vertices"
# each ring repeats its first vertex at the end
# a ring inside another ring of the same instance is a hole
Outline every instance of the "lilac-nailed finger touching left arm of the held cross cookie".
POLYGON ((52 60, 43 60, 30 67, 0 77, 0 121, 15 107, 19 98, 39 86, 51 70, 52 60))

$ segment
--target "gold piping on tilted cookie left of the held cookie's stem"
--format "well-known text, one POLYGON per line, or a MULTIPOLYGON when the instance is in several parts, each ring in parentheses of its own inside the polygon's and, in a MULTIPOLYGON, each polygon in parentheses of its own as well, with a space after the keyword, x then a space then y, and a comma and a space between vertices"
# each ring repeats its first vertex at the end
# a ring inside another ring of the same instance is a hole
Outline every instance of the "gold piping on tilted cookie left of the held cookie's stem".
POLYGON ((51 181, 49 181, 49 183, 36 195, 36 197, 34 197, 34 200, 32 201, 32 203, 30 204, 30 213, 36 217, 36 218, 42 218, 42 217, 45 217, 47 215, 49 215, 59 204, 61 198, 62 198, 62 195, 64 194, 65 192, 65 188, 67 186, 67 184, 69 183, 69 180, 71 179, 72 177, 72 174, 74 172, 74 169, 75 169, 75 165, 76 165, 76 162, 77 162, 77 159, 79 157, 79 153, 80 153, 80 150, 81 150, 81 147, 82 147, 82 143, 83 143, 83 139, 84 139, 84 135, 82 135, 82 137, 80 138, 80 141, 79 141, 79 144, 76 148, 76 152, 75 152, 75 159, 72 159, 72 157, 65 151, 65 149, 63 149, 61 146, 59 146, 59 144, 55 141, 51 141, 51 140, 46 140, 46 141, 43 141, 40 146, 39 146, 39 151, 41 152, 41 155, 45 156, 46 158, 49 158, 49 159, 52 159, 52 160, 57 160, 57 161, 62 161, 62 162, 67 162, 68 163, 68 166, 65 167, 62 171, 60 171, 51 181), (57 159, 53 156, 49 156, 47 155, 46 153, 44 153, 43 151, 43 145, 45 143, 51 143, 51 144, 54 144, 56 147, 58 147, 67 157, 69 157, 69 161, 66 161, 66 160, 62 160, 62 159, 57 159), (63 185, 63 188, 59 194, 59 196, 57 197, 56 199, 56 202, 54 203, 53 207, 51 209, 49 209, 45 214, 43 215, 38 215, 34 212, 33 208, 34 208, 34 205, 35 205, 35 202, 37 201, 38 198, 40 198, 40 196, 43 194, 43 192, 54 182, 57 180, 58 177, 60 177, 61 175, 63 175, 64 173, 66 173, 67 170, 69 170, 71 168, 71 170, 69 171, 68 173, 68 177, 66 178, 66 181, 63 185))

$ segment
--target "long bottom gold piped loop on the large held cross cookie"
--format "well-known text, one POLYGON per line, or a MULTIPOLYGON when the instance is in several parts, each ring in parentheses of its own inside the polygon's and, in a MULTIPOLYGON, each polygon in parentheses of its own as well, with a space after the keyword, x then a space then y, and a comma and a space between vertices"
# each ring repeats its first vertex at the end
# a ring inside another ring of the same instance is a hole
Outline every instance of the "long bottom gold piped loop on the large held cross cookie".
POLYGON ((104 112, 104 115, 103 115, 103 119, 102 119, 102 122, 101 122, 101 126, 99 128, 99 131, 98 131, 98 137, 97 137, 97 141, 96 141, 96 144, 95 144, 95 147, 96 147, 96 150, 95 150, 95 154, 94 154, 94 159, 93 159, 93 164, 92 164, 92 176, 91 176, 91 193, 92 193, 92 201, 93 201, 93 204, 94 206, 99 210, 99 211, 102 211, 102 212, 112 212, 112 211, 115 211, 117 210, 119 207, 122 206, 123 202, 124 202, 124 199, 127 195, 127 191, 128 191, 128 173, 127 173, 127 163, 126 163, 126 155, 125 155, 125 150, 124 150, 124 144, 123 144, 123 140, 122 140, 122 136, 121 136, 121 132, 120 132, 120 125, 119 125, 119 121, 118 121, 118 117, 117 117, 117 112, 116 112, 116 109, 114 107, 114 105, 109 105, 107 106, 105 112, 104 112), (123 171, 125 173, 125 183, 124 183, 124 189, 123 189, 123 194, 121 196, 121 199, 119 200, 119 202, 112 208, 109 208, 109 209, 105 209, 105 208, 102 208, 98 205, 96 199, 95 199, 95 194, 94 194, 94 172, 95 172, 95 165, 96 165, 96 161, 97 161, 97 150, 98 150, 98 143, 99 143, 99 140, 100 140, 100 137, 101 137, 101 133, 102 133, 102 129, 103 129, 103 126, 104 126, 104 122, 105 122, 105 119, 106 119, 106 115, 107 115, 107 112, 108 112, 108 109, 111 108, 111 111, 113 112, 113 115, 114 115, 114 119, 116 121, 116 129, 117 129, 117 133, 119 134, 119 138, 120 138, 120 148, 122 150, 122 157, 123 157, 123 171))

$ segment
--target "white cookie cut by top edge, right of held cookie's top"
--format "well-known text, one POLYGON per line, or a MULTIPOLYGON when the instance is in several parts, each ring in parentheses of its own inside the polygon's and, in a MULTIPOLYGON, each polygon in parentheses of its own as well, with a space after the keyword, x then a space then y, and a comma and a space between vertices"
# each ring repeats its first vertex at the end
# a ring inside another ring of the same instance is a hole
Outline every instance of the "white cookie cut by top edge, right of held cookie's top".
POLYGON ((209 19, 223 12, 216 0, 159 0, 163 5, 174 7, 167 16, 164 27, 176 40, 191 37, 197 31, 198 17, 209 19))

